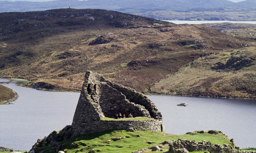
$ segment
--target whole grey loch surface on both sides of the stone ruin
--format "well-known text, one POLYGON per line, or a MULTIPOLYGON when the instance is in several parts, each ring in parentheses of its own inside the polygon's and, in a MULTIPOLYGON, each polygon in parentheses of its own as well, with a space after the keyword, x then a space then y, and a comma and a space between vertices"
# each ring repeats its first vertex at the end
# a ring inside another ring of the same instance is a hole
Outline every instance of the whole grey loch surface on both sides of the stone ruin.
MULTIPOLYGON (((0 83, 19 94, 0 106, 0 146, 29 150, 37 139, 72 123, 76 92, 53 92, 0 83)), ((9 83, 7 83, 9 82, 9 83)), ((241 147, 256 147, 256 100, 148 95, 163 115, 165 131, 182 135, 196 130, 220 130, 241 147), (186 107, 177 106, 187 103, 186 107)))

